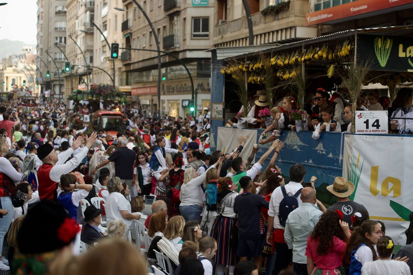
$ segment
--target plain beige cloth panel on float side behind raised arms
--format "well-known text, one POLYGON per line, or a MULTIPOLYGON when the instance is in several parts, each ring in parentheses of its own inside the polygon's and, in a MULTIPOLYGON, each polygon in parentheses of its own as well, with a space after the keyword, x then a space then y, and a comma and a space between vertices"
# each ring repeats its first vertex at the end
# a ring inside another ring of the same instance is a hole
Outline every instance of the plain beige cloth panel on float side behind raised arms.
MULTIPOLYGON (((242 160, 247 160, 252 153, 252 146, 257 141, 257 131, 250 129, 236 129, 230 127, 218 127, 218 138, 216 148, 221 148, 221 151, 225 154, 232 153, 232 151, 238 146, 240 136, 249 135, 244 149, 240 154, 242 160)), ((254 163, 255 160, 252 161, 254 163)))

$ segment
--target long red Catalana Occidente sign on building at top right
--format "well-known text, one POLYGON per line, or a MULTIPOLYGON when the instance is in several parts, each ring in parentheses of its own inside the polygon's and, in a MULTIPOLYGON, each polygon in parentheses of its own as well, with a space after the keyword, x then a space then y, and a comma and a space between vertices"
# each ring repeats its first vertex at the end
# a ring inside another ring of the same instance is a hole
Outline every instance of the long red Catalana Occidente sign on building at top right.
POLYGON ((343 5, 306 14, 306 26, 313 26, 338 19, 375 12, 400 5, 410 4, 411 0, 358 0, 343 5))

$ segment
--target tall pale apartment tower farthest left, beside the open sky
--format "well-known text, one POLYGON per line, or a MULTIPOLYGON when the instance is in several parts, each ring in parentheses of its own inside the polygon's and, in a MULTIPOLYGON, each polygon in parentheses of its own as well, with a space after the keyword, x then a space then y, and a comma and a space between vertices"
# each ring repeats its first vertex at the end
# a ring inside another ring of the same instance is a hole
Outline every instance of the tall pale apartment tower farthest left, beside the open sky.
POLYGON ((36 66, 43 75, 42 82, 46 88, 44 94, 52 98, 63 98, 64 54, 55 47, 66 45, 66 0, 37 1, 37 52, 36 66), (47 52, 46 52, 47 51, 47 52), (46 78, 46 70, 50 70, 50 78, 46 78))

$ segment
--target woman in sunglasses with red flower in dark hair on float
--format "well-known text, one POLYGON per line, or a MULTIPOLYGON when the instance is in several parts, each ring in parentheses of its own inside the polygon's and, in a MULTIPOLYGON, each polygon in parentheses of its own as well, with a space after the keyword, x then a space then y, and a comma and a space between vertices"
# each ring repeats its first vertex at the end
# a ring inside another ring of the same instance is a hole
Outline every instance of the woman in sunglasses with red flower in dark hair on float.
MULTIPOLYGON (((314 101, 316 102, 316 106, 313 108, 313 113, 311 114, 311 122, 313 125, 318 125, 320 122, 323 122, 321 118, 321 107, 330 107, 332 108, 332 119, 337 121, 340 125, 344 124, 343 122, 343 110, 339 104, 335 101, 329 101, 330 94, 323 88, 318 88, 316 91, 316 96, 314 97, 314 101)), ((313 126, 314 128, 316 126, 313 126)), ((339 127, 339 125, 337 125, 339 127)))

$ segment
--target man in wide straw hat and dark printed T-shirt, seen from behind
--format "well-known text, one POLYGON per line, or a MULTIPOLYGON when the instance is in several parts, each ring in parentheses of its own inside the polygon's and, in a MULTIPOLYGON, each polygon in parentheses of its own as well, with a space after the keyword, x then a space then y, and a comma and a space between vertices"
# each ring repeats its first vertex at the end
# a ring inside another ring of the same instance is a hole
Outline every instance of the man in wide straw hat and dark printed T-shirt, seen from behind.
MULTIPOLYGON (((337 197, 337 203, 328 207, 328 210, 340 210, 343 212, 343 221, 347 222, 351 226, 351 216, 359 210, 364 210, 367 212, 366 207, 363 204, 353 202, 349 199, 349 195, 354 192, 354 184, 346 179, 338 176, 335 178, 334 183, 327 186, 327 190, 337 197)), ((369 218, 368 218, 369 219, 369 218)))

